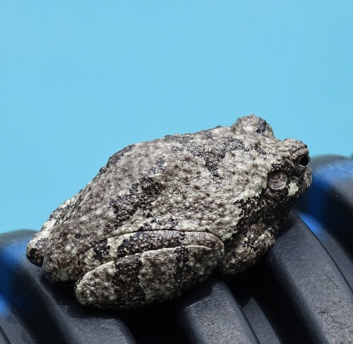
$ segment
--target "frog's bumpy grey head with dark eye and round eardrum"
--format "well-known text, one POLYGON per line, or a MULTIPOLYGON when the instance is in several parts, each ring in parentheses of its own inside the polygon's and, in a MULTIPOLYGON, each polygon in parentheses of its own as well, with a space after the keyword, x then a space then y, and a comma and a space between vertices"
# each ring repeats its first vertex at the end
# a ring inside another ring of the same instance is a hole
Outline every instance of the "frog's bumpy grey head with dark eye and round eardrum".
POLYGON ((232 130, 258 152, 252 155, 256 167, 250 173, 253 179, 261 181, 261 187, 256 196, 241 204, 243 211, 251 209, 248 211, 253 215, 247 224, 260 221, 282 225, 294 201, 311 184, 308 147, 292 138, 275 138, 270 125, 253 115, 241 117, 232 130))

